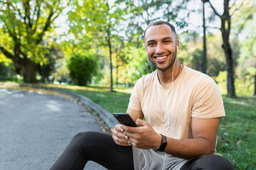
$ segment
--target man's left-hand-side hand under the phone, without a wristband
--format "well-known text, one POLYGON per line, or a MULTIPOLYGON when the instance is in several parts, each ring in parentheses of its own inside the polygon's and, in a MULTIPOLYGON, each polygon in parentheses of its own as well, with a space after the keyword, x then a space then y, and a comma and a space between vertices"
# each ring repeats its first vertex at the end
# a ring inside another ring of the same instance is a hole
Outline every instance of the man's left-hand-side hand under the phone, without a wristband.
POLYGON ((117 145, 122 145, 122 146, 131 146, 131 142, 129 140, 129 137, 124 135, 124 130, 121 128, 121 125, 115 125, 114 129, 112 130, 112 137, 114 142, 117 145))

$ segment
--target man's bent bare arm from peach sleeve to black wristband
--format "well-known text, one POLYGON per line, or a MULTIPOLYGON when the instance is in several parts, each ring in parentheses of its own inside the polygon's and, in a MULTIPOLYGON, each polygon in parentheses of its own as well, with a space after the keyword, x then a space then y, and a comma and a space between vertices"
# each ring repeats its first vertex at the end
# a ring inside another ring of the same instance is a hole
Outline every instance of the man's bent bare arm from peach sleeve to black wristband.
POLYGON ((215 152, 216 137, 220 118, 191 118, 193 139, 175 140, 167 137, 164 152, 182 159, 193 159, 215 152))

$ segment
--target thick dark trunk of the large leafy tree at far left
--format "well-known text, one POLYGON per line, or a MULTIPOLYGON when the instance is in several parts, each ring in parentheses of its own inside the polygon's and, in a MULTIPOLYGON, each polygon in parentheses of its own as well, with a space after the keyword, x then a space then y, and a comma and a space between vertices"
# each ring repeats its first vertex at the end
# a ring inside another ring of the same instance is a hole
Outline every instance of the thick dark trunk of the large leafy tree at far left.
POLYGON ((31 62, 31 60, 26 60, 26 62, 22 64, 22 66, 24 83, 36 83, 36 64, 34 62, 31 62))

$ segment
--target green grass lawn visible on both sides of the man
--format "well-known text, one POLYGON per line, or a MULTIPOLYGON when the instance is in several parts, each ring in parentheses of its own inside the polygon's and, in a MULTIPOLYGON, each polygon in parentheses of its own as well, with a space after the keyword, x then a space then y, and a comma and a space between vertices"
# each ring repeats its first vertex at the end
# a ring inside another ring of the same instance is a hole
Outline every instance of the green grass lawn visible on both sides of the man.
MULTIPOLYGON (((1 85, 1 84, 0 84, 1 85)), ((46 85, 54 89, 72 91, 99 104, 110 113, 125 112, 132 89, 46 85)), ((256 169, 256 97, 223 96, 226 116, 221 118, 218 129, 217 152, 223 154, 235 169, 256 169)))

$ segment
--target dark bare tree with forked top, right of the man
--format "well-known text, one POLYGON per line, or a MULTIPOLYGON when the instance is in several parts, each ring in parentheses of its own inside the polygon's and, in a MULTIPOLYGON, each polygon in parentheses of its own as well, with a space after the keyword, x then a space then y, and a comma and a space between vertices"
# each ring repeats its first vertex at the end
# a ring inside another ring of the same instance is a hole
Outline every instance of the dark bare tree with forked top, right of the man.
MULTIPOLYGON (((233 67, 233 52, 230 46, 230 29, 231 29, 231 17, 233 13, 230 14, 230 8, 235 5, 235 1, 232 6, 230 6, 230 0, 223 0, 223 13, 220 15, 215 7, 210 3, 209 0, 206 0, 210 7, 213 9, 213 12, 216 16, 220 18, 220 31, 223 38, 223 50, 225 52, 226 60, 226 70, 227 70, 227 89, 228 97, 235 97, 235 79, 234 79, 234 67, 233 67)), ((242 5, 242 4, 241 4, 242 5)), ((234 11, 238 10, 236 8, 234 11)))

